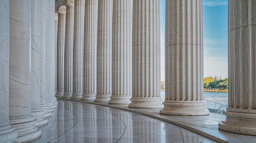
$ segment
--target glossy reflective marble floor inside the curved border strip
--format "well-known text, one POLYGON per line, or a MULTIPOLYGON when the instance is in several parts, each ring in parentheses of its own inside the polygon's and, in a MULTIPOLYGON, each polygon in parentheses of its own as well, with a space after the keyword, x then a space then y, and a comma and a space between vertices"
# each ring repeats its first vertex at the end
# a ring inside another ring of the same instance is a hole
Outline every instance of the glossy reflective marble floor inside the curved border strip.
POLYGON ((214 142, 205 136, 129 111, 74 101, 59 106, 34 142, 214 142))

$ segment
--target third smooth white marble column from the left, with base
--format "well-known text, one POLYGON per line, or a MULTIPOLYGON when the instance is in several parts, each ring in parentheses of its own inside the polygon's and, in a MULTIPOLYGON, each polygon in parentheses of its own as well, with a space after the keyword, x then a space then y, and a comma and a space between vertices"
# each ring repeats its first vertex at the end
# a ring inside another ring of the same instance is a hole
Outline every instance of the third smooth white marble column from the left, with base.
POLYGON ((44 118, 41 108, 41 24, 42 1, 31 1, 31 114, 38 122, 36 126, 47 125, 48 119, 44 118))

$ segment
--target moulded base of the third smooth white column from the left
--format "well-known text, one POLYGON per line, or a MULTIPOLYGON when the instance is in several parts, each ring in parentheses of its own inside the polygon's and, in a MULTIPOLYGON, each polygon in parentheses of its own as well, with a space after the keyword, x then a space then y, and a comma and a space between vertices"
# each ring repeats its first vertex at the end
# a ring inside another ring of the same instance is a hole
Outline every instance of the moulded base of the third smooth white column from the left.
POLYGON ((48 119, 44 118, 44 110, 42 110, 42 108, 32 109, 31 114, 37 120, 37 127, 45 126, 48 124, 48 119))

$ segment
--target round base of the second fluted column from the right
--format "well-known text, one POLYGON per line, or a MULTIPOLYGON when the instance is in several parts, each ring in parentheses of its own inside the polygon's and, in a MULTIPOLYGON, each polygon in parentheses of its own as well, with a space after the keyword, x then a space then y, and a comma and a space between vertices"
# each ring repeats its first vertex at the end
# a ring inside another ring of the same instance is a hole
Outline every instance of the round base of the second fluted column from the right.
POLYGON ((205 101, 171 101, 163 102, 164 108, 160 114, 174 116, 205 116, 209 115, 209 110, 205 108, 205 101))

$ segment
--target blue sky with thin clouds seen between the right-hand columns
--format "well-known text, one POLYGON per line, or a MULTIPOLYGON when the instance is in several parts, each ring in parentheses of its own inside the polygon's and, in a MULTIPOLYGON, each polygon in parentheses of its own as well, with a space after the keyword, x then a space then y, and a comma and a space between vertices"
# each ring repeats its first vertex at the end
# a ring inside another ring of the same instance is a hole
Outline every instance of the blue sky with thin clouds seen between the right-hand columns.
MULTIPOLYGON (((164 81, 165 0, 160 0, 161 81, 164 81)), ((204 77, 227 77, 227 0, 203 0, 204 77)))

